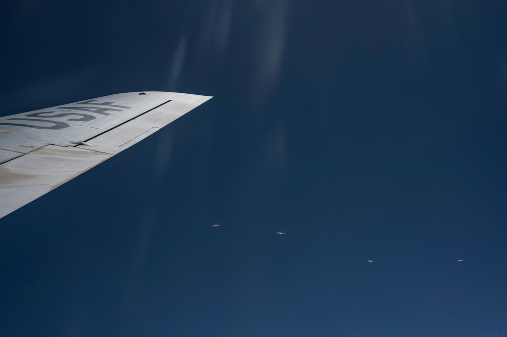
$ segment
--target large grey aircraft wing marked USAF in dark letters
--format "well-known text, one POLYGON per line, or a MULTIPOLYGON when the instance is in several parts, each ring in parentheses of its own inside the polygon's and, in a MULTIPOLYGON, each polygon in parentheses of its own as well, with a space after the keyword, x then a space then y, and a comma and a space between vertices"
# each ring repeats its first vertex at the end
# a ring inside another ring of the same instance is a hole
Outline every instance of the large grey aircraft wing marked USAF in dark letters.
POLYGON ((132 92, 0 117, 0 217, 113 157, 210 98, 132 92))

